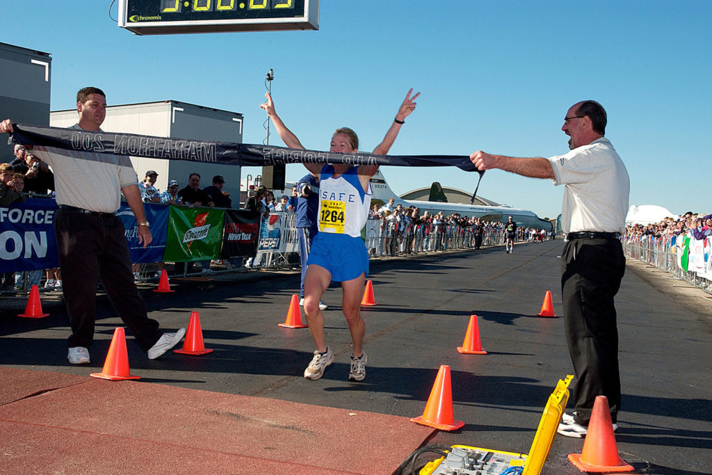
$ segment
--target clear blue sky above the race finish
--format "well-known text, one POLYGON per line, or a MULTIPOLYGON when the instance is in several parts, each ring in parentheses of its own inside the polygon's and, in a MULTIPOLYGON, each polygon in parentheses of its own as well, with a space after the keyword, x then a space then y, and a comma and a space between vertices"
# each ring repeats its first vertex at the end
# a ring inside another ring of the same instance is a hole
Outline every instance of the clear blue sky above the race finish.
MULTIPOLYGON (((244 142, 261 143, 273 68, 277 111, 310 149, 328 150, 348 126, 372 150, 412 87, 417 110, 392 154, 548 157, 567 151, 567 108, 594 99, 630 174, 630 204, 712 212, 711 1, 322 0, 319 31, 169 36, 118 28, 110 4, 0 2, 0 41, 52 55, 52 110, 96 85, 112 105, 173 99, 243 113, 244 142)), ((270 143, 283 145, 276 134, 270 143)), ((459 169, 383 172, 399 194, 476 182, 459 169)), ((287 167, 288 179, 302 175, 287 167)), ((548 217, 562 193, 501 171, 478 192, 548 217)))

